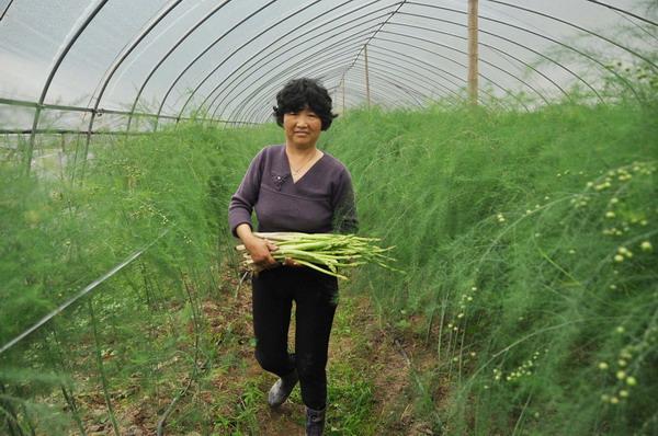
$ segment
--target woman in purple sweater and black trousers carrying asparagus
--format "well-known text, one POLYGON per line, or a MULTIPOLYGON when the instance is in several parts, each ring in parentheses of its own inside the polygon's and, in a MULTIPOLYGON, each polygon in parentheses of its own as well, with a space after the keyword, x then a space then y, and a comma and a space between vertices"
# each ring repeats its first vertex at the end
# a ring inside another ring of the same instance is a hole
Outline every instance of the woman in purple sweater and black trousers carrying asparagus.
POLYGON ((261 272, 252 278, 256 358, 280 379, 268 402, 281 405, 299 381, 306 405, 306 434, 321 435, 327 405, 327 352, 338 282, 290 260, 280 264, 276 245, 252 232, 256 210, 259 231, 354 232, 358 227, 350 173, 316 147, 320 133, 337 116, 331 97, 315 80, 290 81, 276 94, 274 116, 285 144, 261 150, 251 162, 229 206, 229 225, 261 272), (287 335, 295 301, 295 353, 287 335))

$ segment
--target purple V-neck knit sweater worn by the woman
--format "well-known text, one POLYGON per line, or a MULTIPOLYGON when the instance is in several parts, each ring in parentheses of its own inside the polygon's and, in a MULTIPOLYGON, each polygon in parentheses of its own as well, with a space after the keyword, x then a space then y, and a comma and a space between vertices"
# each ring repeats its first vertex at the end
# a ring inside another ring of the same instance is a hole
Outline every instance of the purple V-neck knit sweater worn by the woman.
POLYGON ((253 209, 259 231, 351 233, 359 226, 348 169, 325 152, 294 183, 285 146, 265 147, 251 161, 228 207, 234 236, 240 223, 252 226, 253 209))

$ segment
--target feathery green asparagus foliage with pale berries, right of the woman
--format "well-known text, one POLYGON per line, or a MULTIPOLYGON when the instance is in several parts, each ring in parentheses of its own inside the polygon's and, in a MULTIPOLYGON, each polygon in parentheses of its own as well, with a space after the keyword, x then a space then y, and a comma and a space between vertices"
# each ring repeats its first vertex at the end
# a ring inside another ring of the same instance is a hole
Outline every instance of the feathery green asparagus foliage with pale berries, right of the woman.
POLYGON ((655 108, 360 112, 328 136, 363 232, 409 273, 352 288, 435 347, 438 428, 656 432, 655 108))

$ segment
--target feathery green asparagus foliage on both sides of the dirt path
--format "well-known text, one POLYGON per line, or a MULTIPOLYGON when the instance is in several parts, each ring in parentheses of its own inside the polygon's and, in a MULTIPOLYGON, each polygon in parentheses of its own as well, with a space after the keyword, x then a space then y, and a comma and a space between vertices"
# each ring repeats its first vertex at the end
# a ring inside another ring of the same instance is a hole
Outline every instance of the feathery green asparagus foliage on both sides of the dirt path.
MULTIPOLYGON (((362 233, 396 245, 408 273, 364 265, 349 289, 435 351, 415 386, 438 432, 657 432, 658 114, 647 95, 535 112, 354 111, 320 138, 352 173, 362 233)), ((0 343, 157 242, 86 297, 94 321, 73 305, 0 356, 0 414, 65 433, 107 422, 97 409, 109 399, 123 432, 126 401, 156 410, 181 380, 207 383, 225 356, 202 300, 220 299, 220 273, 236 266, 228 198, 280 140, 274 126, 201 125, 117 138, 92 146, 72 185, 70 168, 24 177, 3 162, 0 343)), ((168 428, 249 432, 258 392, 245 392, 245 427, 188 395, 168 428)))

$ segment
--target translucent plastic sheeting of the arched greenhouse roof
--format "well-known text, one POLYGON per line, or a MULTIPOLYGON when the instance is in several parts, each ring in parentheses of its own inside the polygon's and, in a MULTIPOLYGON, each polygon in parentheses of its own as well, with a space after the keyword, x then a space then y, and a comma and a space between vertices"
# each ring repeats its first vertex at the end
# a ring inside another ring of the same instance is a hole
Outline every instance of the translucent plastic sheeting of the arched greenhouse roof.
MULTIPOLYGON (((478 4, 481 104, 509 93, 542 104, 574 84, 604 100, 606 62, 656 67, 642 55, 658 42, 655 0, 478 4)), ((373 104, 456 102, 467 10, 467 0, 2 0, 0 129, 31 130, 37 103, 42 129, 84 131, 92 110, 124 113, 124 129, 133 112, 197 108, 261 123, 276 90, 303 76, 321 79, 342 112, 366 102, 365 46, 373 104)))

